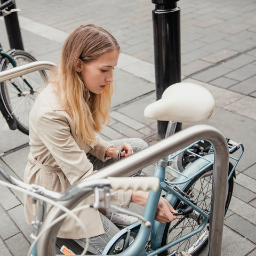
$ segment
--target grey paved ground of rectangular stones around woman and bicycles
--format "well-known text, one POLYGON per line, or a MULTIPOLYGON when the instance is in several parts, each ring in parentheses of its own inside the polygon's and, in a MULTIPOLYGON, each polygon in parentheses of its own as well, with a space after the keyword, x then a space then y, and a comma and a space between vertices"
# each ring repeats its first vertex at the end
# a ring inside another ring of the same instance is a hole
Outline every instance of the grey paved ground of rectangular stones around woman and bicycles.
MULTIPOLYGON (((155 101, 151 1, 17 0, 25 50, 38 60, 58 63, 61 45, 77 26, 96 23, 121 45, 115 69, 110 139, 139 137, 155 143, 156 122, 143 116, 155 101)), ((205 124, 243 142, 233 198, 223 231, 222 256, 256 255, 256 2, 255 0, 180 0, 182 79, 205 86, 215 109, 205 124)), ((9 49, 3 19, 0 37, 9 49)), ((183 128, 194 123, 183 123, 183 128)), ((28 136, 8 129, 0 119, 0 164, 19 179, 27 162, 28 136), (18 147, 18 149, 17 149, 18 147)), ((146 173, 151 173, 150 165, 146 173)), ((31 228, 23 216, 22 194, 1 188, 0 254, 26 255, 31 228)), ((201 255, 207 255, 206 250, 201 255)), ((218 255, 217 255, 218 256, 218 255)))

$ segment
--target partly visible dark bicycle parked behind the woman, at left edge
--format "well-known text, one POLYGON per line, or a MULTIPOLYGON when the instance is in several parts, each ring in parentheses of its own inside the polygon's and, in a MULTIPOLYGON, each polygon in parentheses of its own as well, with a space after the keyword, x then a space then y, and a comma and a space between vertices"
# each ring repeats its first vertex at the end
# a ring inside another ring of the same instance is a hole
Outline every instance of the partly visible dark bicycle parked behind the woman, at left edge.
MULTIPOLYGON (((7 10, 13 2, 10 0, 0 5, 0 16, 20 11, 7 10)), ((23 50, 11 49, 5 52, 1 44, 0 55, 0 72, 36 61, 31 54, 23 50)), ((29 113, 46 80, 45 70, 38 70, 26 77, 13 78, 0 84, 0 110, 11 130, 18 129, 22 133, 29 133, 29 113)))

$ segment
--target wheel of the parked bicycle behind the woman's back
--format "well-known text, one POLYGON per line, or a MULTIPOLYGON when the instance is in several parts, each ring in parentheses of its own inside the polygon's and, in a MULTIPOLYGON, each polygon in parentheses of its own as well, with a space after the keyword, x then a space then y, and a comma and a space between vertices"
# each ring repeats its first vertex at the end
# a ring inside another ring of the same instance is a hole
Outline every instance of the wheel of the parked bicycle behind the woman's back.
MULTIPOLYGON (((15 50, 11 57, 17 66, 36 61, 29 53, 22 50, 15 50)), ((13 68, 9 59, 4 58, 0 71, 13 68)), ((46 73, 44 70, 35 71, 25 76, 10 79, 1 83, 1 98, 6 109, 12 114, 17 121, 17 128, 25 133, 29 133, 29 113, 34 101, 46 83, 46 73), (29 87, 29 85, 31 88, 29 87)))

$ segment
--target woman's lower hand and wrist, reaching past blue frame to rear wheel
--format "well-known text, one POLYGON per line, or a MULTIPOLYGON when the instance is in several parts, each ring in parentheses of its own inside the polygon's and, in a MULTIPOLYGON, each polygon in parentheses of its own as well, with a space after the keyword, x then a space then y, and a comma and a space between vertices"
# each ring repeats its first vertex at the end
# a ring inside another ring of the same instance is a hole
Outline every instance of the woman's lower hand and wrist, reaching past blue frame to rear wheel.
MULTIPOLYGON (((145 191, 132 191, 131 202, 145 206, 148 199, 148 192, 145 191)), ((173 209, 170 203, 164 198, 160 197, 155 220, 165 223, 177 219, 177 216, 173 215, 172 212, 177 212, 173 209)))

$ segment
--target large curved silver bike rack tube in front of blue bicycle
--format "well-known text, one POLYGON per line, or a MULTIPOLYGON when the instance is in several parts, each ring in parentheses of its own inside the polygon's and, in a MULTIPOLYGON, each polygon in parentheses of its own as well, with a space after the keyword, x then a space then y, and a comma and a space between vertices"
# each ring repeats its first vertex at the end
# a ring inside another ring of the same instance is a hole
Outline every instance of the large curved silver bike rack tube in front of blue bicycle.
MULTIPOLYGON (((129 176, 130 174, 141 170, 143 167, 146 167, 149 164, 156 162, 158 159, 161 159, 166 155, 172 154, 181 148, 187 147, 196 140, 202 139, 209 140, 212 143, 215 151, 213 194, 210 218, 211 222, 209 237, 209 255, 220 255, 225 208, 225 191, 228 177, 229 153, 225 137, 223 137, 223 135, 214 127, 209 125, 195 125, 189 127, 188 129, 175 133, 171 137, 164 139, 156 143, 155 145, 140 151, 137 154, 134 154, 130 157, 123 159, 122 161, 116 162, 112 165, 105 167, 104 169, 101 169, 99 172, 91 175, 85 180, 102 179, 109 176, 129 176)), ((82 185, 83 181, 80 181, 79 183, 80 185, 82 185)), ((89 194, 90 192, 85 191, 73 198, 72 200, 65 202, 64 205, 69 209, 73 209, 77 203, 81 202, 82 199, 89 194)), ((52 207, 49 213, 46 215, 43 227, 49 225, 49 223, 51 223, 54 219, 58 218, 61 213, 61 210, 57 209, 56 207, 52 207)), ((59 223, 55 227, 50 228, 48 231, 46 231, 42 238, 39 239, 39 242, 37 244, 38 256, 55 255, 55 237, 58 234, 60 226, 61 223, 59 223)), ((128 251, 129 248, 127 249, 127 252, 128 251)), ((126 253, 124 252, 124 254, 122 253, 122 255, 126 255, 126 253)))

